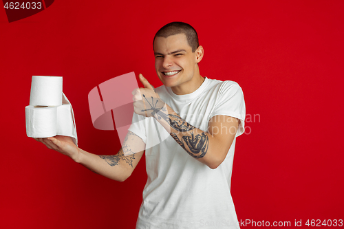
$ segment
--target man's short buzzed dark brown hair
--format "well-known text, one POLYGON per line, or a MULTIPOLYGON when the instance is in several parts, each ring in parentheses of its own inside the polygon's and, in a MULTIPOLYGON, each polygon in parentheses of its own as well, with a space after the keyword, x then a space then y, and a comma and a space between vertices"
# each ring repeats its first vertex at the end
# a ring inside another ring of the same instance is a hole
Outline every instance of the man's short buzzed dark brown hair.
POLYGON ((192 52, 195 52, 197 50, 198 44, 198 36, 196 30, 189 25, 188 23, 180 22, 180 21, 173 21, 171 23, 168 23, 164 25, 158 32, 156 32, 154 39, 153 39, 153 45, 155 41, 155 37, 162 36, 164 38, 168 36, 172 36, 175 34, 185 34, 186 40, 188 41, 192 52))

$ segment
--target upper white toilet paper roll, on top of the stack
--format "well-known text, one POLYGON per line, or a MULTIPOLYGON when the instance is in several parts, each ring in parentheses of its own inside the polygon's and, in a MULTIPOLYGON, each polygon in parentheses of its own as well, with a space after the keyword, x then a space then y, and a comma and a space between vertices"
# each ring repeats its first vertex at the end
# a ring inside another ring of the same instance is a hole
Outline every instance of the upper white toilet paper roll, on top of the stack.
POLYGON ((62 105, 61 76, 32 76, 30 105, 59 106, 62 105))

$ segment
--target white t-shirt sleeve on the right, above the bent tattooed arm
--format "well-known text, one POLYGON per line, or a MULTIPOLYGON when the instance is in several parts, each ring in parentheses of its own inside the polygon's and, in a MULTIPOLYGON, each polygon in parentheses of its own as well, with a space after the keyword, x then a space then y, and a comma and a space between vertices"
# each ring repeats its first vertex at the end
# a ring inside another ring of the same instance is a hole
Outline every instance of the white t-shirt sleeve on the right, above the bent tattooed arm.
POLYGON ((236 136, 244 133, 245 128, 245 100, 241 87, 233 81, 224 81, 219 88, 215 108, 209 120, 214 116, 224 115, 239 119, 236 136))

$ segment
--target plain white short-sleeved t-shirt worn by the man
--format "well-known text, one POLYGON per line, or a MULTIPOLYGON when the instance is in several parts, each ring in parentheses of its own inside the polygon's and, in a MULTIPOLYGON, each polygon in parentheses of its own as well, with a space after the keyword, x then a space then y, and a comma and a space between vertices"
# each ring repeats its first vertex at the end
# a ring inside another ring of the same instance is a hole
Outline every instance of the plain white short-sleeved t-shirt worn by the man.
MULTIPOLYGON (((244 133, 244 95, 233 81, 205 78, 186 95, 176 95, 164 85, 156 91, 193 127, 207 131, 213 116, 225 115, 239 119, 236 137, 244 133)), ((230 195, 235 140, 224 162, 211 169, 191 157, 153 118, 134 114, 129 131, 146 143, 148 179, 136 229, 239 228, 230 195)))

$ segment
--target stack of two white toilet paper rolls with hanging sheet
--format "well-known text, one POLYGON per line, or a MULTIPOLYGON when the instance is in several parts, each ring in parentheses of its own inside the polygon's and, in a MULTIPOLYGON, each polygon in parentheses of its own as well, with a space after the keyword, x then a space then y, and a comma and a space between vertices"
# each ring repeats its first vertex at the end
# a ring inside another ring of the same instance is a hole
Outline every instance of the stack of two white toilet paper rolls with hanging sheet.
POLYGON ((61 76, 32 76, 30 105, 25 107, 26 135, 72 137, 77 145, 72 105, 63 94, 61 76))

